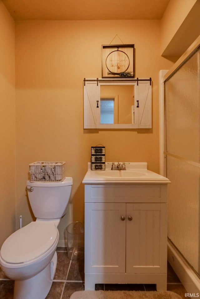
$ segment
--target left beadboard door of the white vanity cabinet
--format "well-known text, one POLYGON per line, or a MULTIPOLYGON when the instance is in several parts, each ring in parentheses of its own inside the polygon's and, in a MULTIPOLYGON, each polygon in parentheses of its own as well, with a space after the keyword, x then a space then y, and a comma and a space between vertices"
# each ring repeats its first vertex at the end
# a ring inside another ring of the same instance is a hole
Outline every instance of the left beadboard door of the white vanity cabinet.
POLYGON ((85 203, 85 273, 125 273, 125 203, 85 203))

